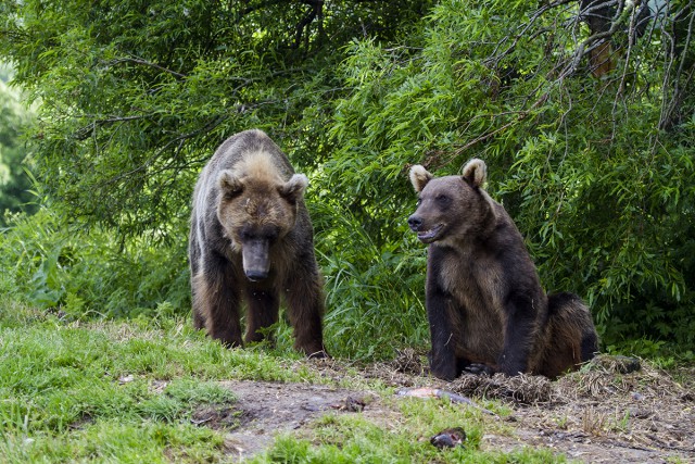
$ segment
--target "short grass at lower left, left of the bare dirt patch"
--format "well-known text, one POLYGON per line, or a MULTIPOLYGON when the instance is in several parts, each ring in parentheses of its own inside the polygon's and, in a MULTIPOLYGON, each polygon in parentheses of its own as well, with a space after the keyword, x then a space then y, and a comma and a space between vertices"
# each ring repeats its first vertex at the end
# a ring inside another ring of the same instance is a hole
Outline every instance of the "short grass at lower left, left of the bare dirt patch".
POLYGON ((228 350, 180 318, 68 323, 3 298, 0 461, 218 462, 224 430, 191 417, 233 407, 217 381, 229 377, 312 378, 267 354, 228 350))

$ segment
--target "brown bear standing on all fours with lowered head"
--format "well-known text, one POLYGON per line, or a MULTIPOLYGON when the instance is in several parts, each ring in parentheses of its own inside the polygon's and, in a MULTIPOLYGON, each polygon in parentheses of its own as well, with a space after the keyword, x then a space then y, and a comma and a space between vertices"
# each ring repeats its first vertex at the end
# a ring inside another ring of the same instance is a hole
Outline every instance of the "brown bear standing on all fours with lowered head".
POLYGON ((278 321, 280 296, 294 348, 326 355, 321 278, 304 204, 307 179, 261 130, 237 134, 217 149, 193 193, 189 237, 193 323, 230 347, 241 346, 239 311, 247 303, 245 341, 278 321))

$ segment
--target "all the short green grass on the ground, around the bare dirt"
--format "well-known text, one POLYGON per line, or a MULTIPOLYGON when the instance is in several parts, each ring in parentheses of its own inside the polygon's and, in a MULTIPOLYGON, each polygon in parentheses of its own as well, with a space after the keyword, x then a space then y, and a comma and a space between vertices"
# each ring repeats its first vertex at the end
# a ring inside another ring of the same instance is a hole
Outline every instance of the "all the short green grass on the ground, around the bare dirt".
MULTIPOLYGON (((393 414, 328 414, 282 434, 253 462, 564 462, 547 450, 482 451, 484 434, 505 434, 480 411, 443 401, 397 401, 378 379, 320 375, 295 353, 226 350, 187 319, 68 322, 0 303, 0 462, 233 462, 233 430, 192 419, 205 406, 233 410, 219 380, 339 383, 376 391, 393 414), (350 379, 352 378, 352 380, 350 379), (440 451, 422 437, 456 424, 466 448, 440 451)), ((504 406, 490 403, 498 414, 504 406)))

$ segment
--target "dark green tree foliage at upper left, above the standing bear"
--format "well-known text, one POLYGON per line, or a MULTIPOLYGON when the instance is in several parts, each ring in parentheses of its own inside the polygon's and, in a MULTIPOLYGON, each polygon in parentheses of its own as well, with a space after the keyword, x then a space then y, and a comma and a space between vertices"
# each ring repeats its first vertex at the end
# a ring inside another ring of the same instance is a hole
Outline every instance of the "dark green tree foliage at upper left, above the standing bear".
POLYGON ((34 134, 48 192, 119 234, 170 238, 222 140, 255 126, 320 130, 329 113, 312 104, 340 93, 336 51, 365 33, 394 37, 428 4, 5 2, 0 53, 42 101, 34 134))

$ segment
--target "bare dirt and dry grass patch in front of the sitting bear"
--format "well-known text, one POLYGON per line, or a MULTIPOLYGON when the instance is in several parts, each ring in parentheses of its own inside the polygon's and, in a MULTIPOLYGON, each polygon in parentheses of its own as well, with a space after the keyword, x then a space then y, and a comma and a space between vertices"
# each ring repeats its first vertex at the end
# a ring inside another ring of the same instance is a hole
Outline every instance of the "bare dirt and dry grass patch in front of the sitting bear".
MULTIPOLYGON (((394 391, 454 393, 479 403, 497 399, 513 411, 511 435, 485 435, 482 448, 511 451, 545 447, 587 463, 695 463, 695 369, 671 375, 639 360, 598 356, 582 371, 551 381, 540 376, 466 375, 453 383, 428 376, 424 356, 402 352, 393 362, 366 366, 365 380, 394 391), (680 460, 680 461, 679 461, 680 460)), ((336 383, 354 377, 338 361, 311 362, 336 383), (348 374, 348 373, 351 374, 348 374)), ((227 450, 243 460, 269 447, 279 431, 301 430, 327 412, 384 421, 397 414, 379 396, 326 385, 227 381, 238 397, 232 409, 193 415, 200 425, 230 430, 227 450)), ((456 397, 455 397, 456 398, 456 397)), ((462 407, 481 407, 463 403, 462 407)))

